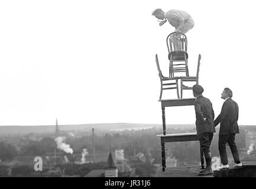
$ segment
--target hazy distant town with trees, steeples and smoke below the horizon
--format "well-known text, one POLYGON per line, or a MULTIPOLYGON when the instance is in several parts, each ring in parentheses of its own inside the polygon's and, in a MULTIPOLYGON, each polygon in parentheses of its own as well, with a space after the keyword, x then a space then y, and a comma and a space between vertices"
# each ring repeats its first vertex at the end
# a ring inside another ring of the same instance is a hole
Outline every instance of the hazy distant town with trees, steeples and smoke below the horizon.
MULTIPOLYGON (((218 128, 218 127, 217 127, 218 128)), ((241 125, 236 145, 242 162, 256 164, 256 126, 241 125)), ((195 125, 167 125, 167 133, 196 132, 195 125)), ((1 177, 154 177, 161 167, 161 125, 0 126, 1 177), (43 170, 35 171, 35 157, 43 170)), ((219 157, 218 130, 211 145, 219 157)), ((228 148, 228 157, 232 155, 228 148)), ((166 144, 167 167, 200 166, 199 142, 166 144)))

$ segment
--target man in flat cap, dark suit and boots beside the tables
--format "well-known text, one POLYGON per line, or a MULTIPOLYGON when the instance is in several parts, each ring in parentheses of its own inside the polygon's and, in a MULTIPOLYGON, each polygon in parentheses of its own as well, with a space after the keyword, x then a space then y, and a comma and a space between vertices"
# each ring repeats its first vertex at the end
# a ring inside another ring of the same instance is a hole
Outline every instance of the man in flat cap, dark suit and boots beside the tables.
POLYGON ((213 174, 212 157, 210 155, 210 143, 212 142, 214 126, 214 111, 212 103, 209 99, 202 96, 203 87, 199 84, 193 86, 193 95, 196 97, 195 112, 196 112, 196 132, 199 138, 200 148, 205 155, 206 169, 200 171, 198 175, 213 174))

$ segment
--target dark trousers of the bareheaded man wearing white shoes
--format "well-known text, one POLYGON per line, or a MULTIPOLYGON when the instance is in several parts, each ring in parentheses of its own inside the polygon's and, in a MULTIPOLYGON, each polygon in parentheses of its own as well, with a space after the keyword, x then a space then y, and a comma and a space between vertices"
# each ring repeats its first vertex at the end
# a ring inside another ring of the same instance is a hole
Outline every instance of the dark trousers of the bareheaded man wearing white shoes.
POLYGON ((231 149, 234 161, 236 164, 240 163, 239 154, 235 144, 235 133, 229 133, 228 135, 219 136, 219 155, 221 156, 221 163, 223 165, 228 164, 228 155, 226 154, 226 142, 231 149))

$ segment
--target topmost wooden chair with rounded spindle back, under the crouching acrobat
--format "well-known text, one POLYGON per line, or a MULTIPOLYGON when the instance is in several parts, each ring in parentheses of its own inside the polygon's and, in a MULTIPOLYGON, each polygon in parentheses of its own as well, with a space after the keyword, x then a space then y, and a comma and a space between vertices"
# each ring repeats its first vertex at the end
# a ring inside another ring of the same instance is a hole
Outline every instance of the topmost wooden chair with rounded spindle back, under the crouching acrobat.
POLYGON ((166 39, 168 59, 170 60, 169 77, 174 77, 176 72, 185 72, 189 76, 187 66, 187 37, 180 32, 172 32, 166 39), (183 63, 180 63, 183 62, 183 63))

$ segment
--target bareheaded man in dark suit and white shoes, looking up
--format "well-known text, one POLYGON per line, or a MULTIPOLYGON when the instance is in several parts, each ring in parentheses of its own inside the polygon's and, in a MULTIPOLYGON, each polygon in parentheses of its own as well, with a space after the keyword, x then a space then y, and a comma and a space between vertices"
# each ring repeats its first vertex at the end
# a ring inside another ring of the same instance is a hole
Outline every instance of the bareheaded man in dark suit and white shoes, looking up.
POLYGON ((221 114, 214 120, 214 125, 217 126, 221 123, 219 128, 219 155, 221 156, 221 167, 229 168, 228 155, 226 154, 226 142, 228 142, 231 149, 235 165, 234 167, 242 167, 239 160, 239 154, 235 144, 235 134, 239 133, 238 128, 238 105, 231 99, 233 96, 232 91, 229 88, 225 88, 221 94, 221 98, 225 100, 223 103, 221 114))

